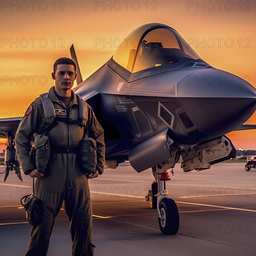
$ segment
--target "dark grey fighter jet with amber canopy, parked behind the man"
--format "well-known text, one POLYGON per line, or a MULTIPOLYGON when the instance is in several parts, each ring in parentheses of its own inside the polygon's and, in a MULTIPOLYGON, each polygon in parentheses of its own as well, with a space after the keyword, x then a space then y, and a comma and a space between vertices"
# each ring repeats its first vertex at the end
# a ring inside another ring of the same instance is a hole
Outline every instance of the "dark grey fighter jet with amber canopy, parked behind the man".
MULTIPOLYGON (((78 64, 74 46, 70 50, 78 64)), ((147 200, 158 211, 162 233, 176 234, 179 212, 168 198, 167 170, 180 156, 185 172, 235 157, 225 134, 256 128, 243 125, 255 111, 255 88, 210 66, 175 29, 160 23, 136 28, 85 81, 77 71, 74 91, 93 108, 105 130, 106 168, 124 161, 137 172, 152 168, 147 200)), ((8 121, 2 120, 1 130, 14 136, 8 121)))

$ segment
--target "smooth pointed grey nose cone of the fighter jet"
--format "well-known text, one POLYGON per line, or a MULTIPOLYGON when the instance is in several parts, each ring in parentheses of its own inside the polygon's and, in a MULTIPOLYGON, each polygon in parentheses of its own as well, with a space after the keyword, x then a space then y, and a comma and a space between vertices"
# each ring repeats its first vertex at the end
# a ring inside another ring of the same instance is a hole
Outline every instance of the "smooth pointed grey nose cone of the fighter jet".
POLYGON ((256 107, 251 84, 214 68, 193 70, 177 84, 177 96, 202 132, 215 137, 241 126, 256 107))

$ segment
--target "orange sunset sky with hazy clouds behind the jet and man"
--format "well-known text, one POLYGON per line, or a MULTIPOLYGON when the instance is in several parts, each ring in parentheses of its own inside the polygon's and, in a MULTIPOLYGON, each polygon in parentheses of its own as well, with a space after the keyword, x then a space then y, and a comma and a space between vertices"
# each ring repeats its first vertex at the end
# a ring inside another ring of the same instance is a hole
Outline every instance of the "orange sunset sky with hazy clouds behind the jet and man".
MULTIPOLYGON (((120 40, 150 22, 175 28, 202 60, 256 86, 255 0, 0 3, 1 118, 24 115, 54 85, 53 63, 70 57, 72 44, 85 79, 111 58, 120 40)), ((256 123, 256 115, 248 123, 256 123)), ((255 130, 228 137, 236 148, 256 149, 255 130)))

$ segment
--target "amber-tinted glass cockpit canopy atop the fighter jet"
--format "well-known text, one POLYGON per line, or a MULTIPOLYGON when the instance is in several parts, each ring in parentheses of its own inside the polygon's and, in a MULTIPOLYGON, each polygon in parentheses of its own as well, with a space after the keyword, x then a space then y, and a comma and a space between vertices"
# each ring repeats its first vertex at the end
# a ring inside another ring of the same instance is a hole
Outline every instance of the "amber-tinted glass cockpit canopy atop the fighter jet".
POLYGON ((150 67, 170 64, 187 57, 200 56, 173 28, 149 23, 135 29, 116 50, 113 60, 135 73, 150 67))

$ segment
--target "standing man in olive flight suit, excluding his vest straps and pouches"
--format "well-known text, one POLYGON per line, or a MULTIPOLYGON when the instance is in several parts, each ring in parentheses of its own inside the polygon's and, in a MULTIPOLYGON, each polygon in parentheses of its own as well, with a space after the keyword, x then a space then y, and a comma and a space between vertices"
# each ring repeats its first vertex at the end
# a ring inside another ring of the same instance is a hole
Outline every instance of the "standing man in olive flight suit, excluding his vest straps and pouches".
MULTIPOLYGON (((78 95, 71 89, 76 79, 76 66, 69 58, 60 58, 54 63, 52 77, 55 87, 50 88, 49 98, 53 102, 56 116, 69 120, 79 120, 78 95)), ((26 256, 45 256, 54 225, 63 201, 70 222, 73 256, 93 255, 91 243, 92 209, 88 179, 102 174, 105 163, 105 144, 101 125, 88 104, 83 105, 88 111, 86 128, 89 137, 96 141, 97 166, 94 174, 86 175, 79 165, 78 152, 85 128, 79 123, 58 121, 47 136, 50 144, 50 158, 44 173, 40 173, 29 157, 31 137, 39 133, 46 125, 46 116, 42 101, 37 98, 27 109, 20 121, 15 136, 17 155, 25 175, 37 178, 35 196, 48 204, 45 207, 42 222, 32 228, 26 256)))

